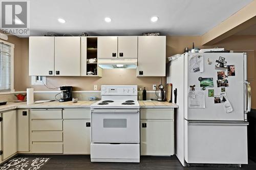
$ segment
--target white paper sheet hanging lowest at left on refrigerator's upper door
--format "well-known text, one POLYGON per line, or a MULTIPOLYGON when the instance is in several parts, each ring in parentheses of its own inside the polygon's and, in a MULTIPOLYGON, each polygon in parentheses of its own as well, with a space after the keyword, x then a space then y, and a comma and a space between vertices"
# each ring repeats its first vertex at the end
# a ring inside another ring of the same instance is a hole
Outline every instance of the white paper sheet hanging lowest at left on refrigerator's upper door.
POLYGON ((189 108, 205 108, 205 90, 195 88, 194 95, 192 91, 188 90, 188 107, 189 108))

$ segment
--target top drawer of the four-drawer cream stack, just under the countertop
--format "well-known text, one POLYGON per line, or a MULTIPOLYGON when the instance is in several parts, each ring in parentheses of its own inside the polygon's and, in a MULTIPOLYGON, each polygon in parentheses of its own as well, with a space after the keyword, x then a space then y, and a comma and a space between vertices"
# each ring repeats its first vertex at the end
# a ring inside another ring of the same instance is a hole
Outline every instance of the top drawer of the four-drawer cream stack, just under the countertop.
POLYGON ((31 110, 31 119, 62 119, 62 110, 31 110))

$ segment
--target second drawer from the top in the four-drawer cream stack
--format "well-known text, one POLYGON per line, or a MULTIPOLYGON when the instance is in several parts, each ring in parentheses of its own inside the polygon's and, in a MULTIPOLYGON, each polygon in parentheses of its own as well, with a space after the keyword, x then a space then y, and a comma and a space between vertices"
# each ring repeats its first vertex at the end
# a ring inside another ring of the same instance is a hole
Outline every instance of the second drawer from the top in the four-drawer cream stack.
POLYGON ((32 120, 32 131, 62 131, 62 120, 32 120))

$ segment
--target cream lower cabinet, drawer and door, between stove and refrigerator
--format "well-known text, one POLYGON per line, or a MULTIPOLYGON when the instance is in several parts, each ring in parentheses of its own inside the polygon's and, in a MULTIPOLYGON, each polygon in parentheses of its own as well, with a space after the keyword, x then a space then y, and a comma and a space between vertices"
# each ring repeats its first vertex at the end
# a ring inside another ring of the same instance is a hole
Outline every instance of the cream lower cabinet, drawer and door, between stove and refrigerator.
POLYGON ((140 109, 141 155, 174 155, 174 109, 140 109))

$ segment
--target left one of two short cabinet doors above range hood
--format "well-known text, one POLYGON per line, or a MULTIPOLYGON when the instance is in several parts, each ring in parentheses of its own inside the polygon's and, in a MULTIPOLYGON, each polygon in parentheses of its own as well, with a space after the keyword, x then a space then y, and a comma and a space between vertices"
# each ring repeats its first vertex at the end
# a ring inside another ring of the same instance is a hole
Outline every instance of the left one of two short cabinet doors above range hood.
POLYGON ((117 37, 98 37, 98 59, 117 58, 117 37))

